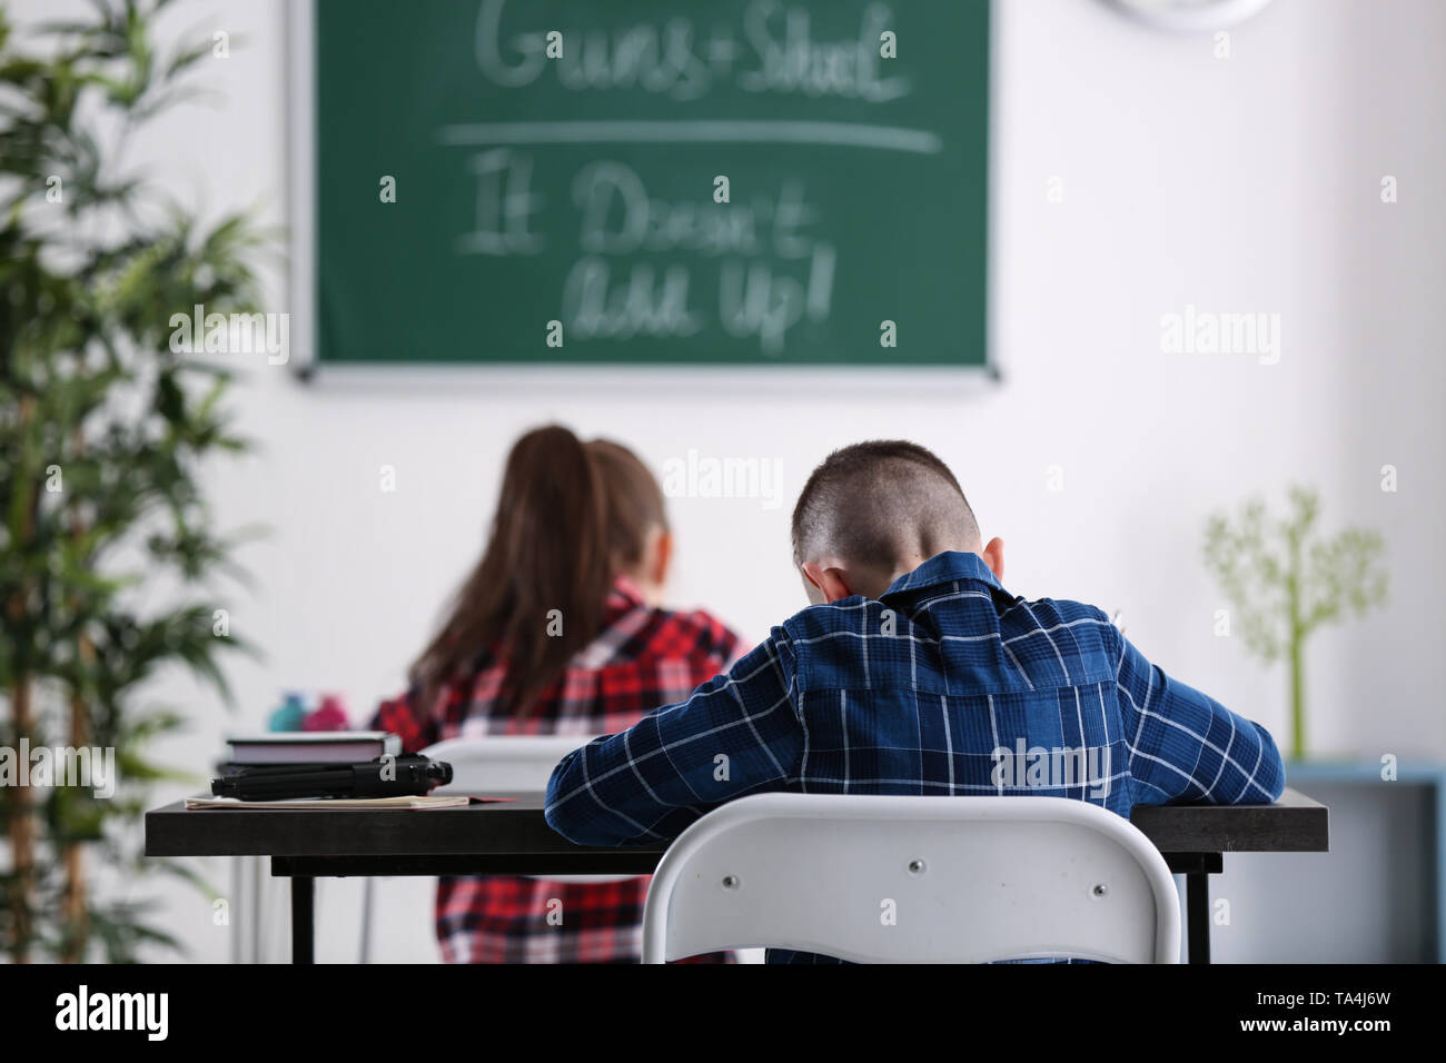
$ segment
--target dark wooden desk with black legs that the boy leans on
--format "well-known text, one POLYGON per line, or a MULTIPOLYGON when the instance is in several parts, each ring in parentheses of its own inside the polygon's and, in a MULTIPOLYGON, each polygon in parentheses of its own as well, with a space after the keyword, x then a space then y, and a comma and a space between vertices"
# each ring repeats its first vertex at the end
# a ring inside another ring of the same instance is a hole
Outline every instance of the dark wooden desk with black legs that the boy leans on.
MULTIPOLYGON (((490 794, 503 797, 503 794, 490 794)), ((366 875, 648 875, 665 846, 593 849, 557 834, 542 794, 435 811, 187 810, 146 813, 146 856, 270 856, 291 879, 292 962, 312 962, 317 878, 366 875)), ((1327 852, 1329 810, 1287 788, 1274 804, 1138 806, 1129 817, 1186 876, 1190 963, 1210 962, 1209 876, 1235 852, 1327 852)))

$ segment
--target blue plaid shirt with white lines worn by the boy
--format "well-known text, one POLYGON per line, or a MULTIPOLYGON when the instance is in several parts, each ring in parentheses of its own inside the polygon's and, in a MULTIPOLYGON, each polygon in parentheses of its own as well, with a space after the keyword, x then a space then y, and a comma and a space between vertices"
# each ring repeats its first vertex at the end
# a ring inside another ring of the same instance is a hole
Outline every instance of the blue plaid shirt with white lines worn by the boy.
POLYGON ((1128 819, 1284 785, 1264 727, 1165 675, 1102 610, 1025 602, 977 554, 946 552, 878 600, 804 609, 685 701, 570 754, 547 820, 625 845, 778 790, 1073 797, 1128 819))

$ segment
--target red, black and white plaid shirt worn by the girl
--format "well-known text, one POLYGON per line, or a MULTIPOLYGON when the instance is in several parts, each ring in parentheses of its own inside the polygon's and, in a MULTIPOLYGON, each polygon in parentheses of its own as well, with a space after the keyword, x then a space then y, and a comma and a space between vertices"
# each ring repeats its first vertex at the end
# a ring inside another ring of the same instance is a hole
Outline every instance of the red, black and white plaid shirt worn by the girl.
MULTIPOLYGON (((529 716, 497 712, 505 664, 484 651, 467 681, 444 688, 432 706, 418 706, 419 691, 412 690, 383 701, 372 726, 401 735, 405 752, 482 735, 613 735, 727 671, 739 649, 737 636, 707 613, 652 609, 632 583, 619 579, 607 599, 602 632, 542 691, 529 716)), ((442 878, 437 884, 442 959, 636 963, 642 957, 642 905, 649 881, 442 878), (549 911, 558 910, 565 913, 562 924, 549 924, 549 911)))

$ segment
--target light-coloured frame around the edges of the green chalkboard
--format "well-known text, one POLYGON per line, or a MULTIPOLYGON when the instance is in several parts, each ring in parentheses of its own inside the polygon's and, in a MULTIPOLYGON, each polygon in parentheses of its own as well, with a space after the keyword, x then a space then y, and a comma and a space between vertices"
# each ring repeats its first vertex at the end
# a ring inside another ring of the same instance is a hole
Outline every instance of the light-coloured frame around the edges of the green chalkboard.
POLYGON ((289 250, 292 347, 288 364, 295 379, 305 383, 324 382, 328 386, 354 385, 373 388, 414 388, 453 390, 486 385, 492 392, 549 390, 630 392, 639 388, 667 392, 671 389, 709 388, 722 392, 755 392, 759 382, 769 388, 807 386, 813 392, 837 392, 868 388, 879 395, 917 395, 988 390, 1006 377, 1006 366, 998 346, 998 55, 999 17, 995 0, 986 0, 989 14, 989 100, 986 143, 986 220, 985 220, 985 292, 983 292, 983 362, 959 366, 928 364, 818 364, 750 363, 750 364, 638 364, 607 362, 577 363, 353 363, 327 362, 317 356, 318 343, 318 276, 317 276, 317 39, 315 6, 318 0, 296 0, 286 6, 286 98, 288 110, 288 192, 289 192, 289 250))

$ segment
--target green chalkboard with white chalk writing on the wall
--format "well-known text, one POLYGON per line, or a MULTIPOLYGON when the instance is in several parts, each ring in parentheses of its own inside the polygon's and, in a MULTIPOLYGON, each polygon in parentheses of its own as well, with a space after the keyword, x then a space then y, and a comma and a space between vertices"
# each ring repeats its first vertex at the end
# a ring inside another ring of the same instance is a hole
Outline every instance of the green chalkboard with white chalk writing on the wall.
POLYGON ((986 364, 986 0, 314 3, 321 363, 986 364))

